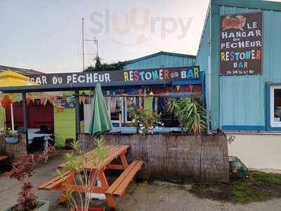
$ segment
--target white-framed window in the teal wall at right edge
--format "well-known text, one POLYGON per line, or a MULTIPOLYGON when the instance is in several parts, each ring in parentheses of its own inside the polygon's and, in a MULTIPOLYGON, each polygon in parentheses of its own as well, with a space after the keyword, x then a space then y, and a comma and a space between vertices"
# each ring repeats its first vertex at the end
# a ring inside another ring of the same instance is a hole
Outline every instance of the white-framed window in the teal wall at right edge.
POLYGON ((270 126, 281 127, 281 85, 270 87, 270 126))

